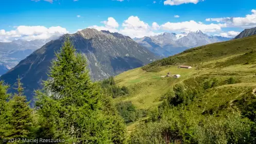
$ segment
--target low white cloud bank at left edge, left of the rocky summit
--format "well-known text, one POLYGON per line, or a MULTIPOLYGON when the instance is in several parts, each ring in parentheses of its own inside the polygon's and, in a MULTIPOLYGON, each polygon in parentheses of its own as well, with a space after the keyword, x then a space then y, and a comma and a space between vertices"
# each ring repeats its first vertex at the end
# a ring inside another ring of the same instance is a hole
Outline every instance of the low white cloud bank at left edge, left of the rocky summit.
POLYGON ((0 30, 0 41, 10 42, 17 39, 27 41, 46 40, 49 38, 59 37, 66 33, 68 33, 68 31, 60 26, 49 28, 44 26, 18 26, 15 30, 0 30))

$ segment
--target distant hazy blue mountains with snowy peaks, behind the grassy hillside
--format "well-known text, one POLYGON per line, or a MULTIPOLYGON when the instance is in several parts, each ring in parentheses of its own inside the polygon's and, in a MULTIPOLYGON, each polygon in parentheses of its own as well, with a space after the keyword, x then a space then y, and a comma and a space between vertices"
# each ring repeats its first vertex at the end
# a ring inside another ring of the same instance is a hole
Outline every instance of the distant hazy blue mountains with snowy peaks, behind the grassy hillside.
POLYGON ((146 47, 156 55, 161 57, 168 57, 182 52, 188 48, 206 45, 215 42, 228 41, 231 38, 224 38, 219 36, 209 36, 203 32, 196 31, 190 33, 168 33, 165 32, 153 37, 144 37, 135 40, 141 46, 146 47))

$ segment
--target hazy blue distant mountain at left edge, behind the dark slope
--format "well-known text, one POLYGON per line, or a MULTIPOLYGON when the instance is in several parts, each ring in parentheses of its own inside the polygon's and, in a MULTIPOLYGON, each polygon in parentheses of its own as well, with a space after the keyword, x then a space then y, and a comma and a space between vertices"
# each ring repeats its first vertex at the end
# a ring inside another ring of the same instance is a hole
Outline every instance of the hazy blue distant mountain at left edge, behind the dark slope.
POLYGON ((0 42, 0 63, 5 67, 14 67, 36 49, 39 49, 49 40, 0 42))

